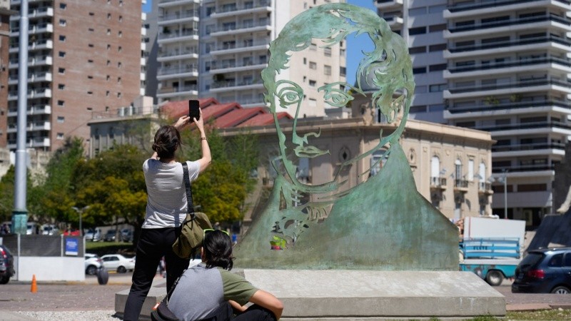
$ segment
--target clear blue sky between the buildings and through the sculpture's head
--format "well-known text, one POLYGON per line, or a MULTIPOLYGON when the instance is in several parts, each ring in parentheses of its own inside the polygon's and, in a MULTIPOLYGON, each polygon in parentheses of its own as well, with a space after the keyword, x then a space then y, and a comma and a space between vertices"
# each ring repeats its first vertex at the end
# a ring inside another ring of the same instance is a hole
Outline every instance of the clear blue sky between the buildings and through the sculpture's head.
MULTIPOLYGON (((283 1, 283 0, 276 0, 283 1)), ((147 0, 147 3, 143 5, 143 12, 151 11, 153 0, 147 0)), ((373 11, 377 11, 373 0, 348 0, 348 4, 353 4, 355 6, 362 6, 363 8, 368 8, 373 11)), ((353 35, 348 36, 347 39, 347 82, 350 84, 355 83, 355 73, 357 72, 357 66, 361 58, 361 51, 371 50, 372 44, 367 41, 367 35, 361 35, 355 37, 353 35)))

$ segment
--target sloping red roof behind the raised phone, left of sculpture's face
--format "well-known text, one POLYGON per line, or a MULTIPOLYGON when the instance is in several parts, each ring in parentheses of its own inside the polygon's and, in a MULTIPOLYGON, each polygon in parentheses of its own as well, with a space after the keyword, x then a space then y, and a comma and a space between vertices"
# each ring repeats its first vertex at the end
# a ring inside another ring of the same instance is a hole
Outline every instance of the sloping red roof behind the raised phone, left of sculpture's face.
MULTIPOLYGON (((266 126, 273 123, 273 116, 266 107, 243 108, 239 103, 218 103, 214 98, 198 99, 202 116, 217 128, 266 126)), ((161 113, 178 118, 188 113, 188 101, 170 101, 161 107, 161 113)), ((278 113, 278 119, 292 119, 288 113, 278 113)))

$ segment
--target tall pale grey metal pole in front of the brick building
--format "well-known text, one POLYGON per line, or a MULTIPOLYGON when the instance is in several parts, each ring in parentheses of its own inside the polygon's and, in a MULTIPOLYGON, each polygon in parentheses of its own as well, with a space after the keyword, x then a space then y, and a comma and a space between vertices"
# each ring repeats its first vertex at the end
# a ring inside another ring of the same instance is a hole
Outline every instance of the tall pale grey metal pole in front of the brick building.
POLYGON ((26 123, 28 121, 28 0, 21 0, 20 39, 18 55, 18 123, 16 128, 16 180, 14 181, 14 210, 12 230, 26 234, 28 210, 26 210, 26 123))

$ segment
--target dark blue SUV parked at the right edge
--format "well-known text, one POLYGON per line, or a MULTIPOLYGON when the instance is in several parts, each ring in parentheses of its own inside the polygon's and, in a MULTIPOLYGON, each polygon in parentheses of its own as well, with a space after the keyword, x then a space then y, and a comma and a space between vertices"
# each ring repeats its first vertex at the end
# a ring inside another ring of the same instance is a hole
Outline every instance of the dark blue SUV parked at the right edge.
POLYGON ((571 293, 571 248, 530 250, 515 269, 513 293, 571 293))

